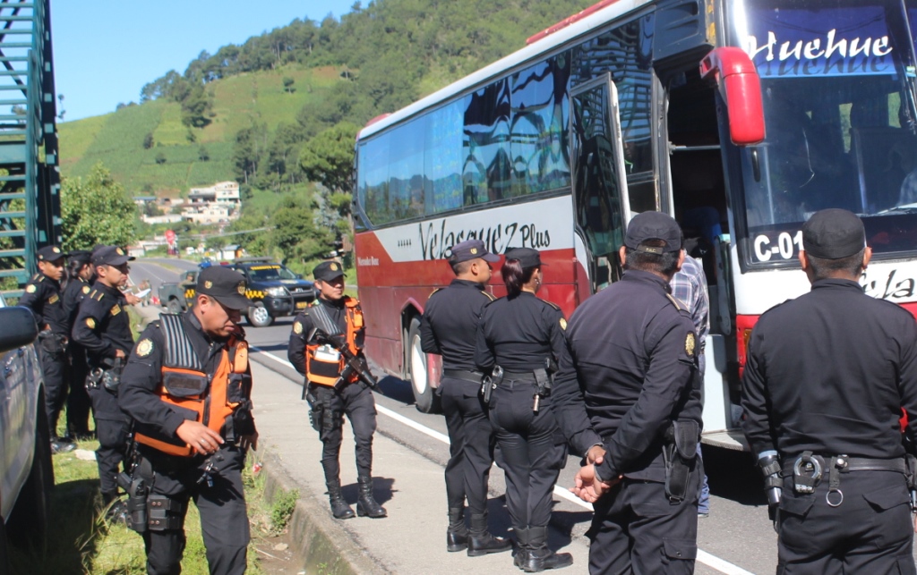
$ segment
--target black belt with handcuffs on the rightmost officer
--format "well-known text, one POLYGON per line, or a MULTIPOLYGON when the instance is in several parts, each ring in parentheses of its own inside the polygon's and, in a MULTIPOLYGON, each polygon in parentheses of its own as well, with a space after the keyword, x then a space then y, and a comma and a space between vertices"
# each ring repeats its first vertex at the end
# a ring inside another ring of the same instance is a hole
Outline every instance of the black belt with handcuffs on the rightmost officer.
POLYGON ((849 472, 899 472, 907 473, 904 458, 893 460, 869 459, 865 457, 847 457, 846 455, 823 456, 803 451, 795 459, 783 462, 783 476, 793 478, 793 491, 797 494, 813 494, 815 487, 822 481, 824 473, 828 474, 828 493, 824 499, 832 507, 844 503, 841 491, 841 473, 849 472))

